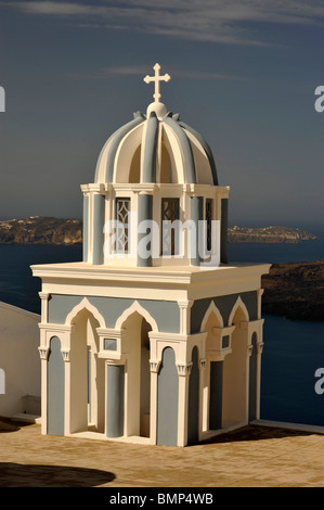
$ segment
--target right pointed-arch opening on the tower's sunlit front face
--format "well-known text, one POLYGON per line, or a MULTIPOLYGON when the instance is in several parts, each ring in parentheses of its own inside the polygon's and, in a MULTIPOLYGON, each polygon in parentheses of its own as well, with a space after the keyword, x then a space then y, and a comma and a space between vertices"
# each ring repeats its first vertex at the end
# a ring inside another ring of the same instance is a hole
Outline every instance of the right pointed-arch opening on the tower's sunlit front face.
POLYGON ((121 344, 126 354, 127 436, 150 437, 150 337, 152 326, 138 311, 122 323, 121 344))

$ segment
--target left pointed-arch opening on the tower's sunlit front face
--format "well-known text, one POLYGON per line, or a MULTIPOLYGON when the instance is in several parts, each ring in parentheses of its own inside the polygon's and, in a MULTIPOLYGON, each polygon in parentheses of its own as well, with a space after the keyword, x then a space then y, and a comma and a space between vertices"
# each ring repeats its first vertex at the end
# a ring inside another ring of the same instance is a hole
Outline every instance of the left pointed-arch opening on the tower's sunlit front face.
POLYGON ((70 337, 70 432, 104 433, 105 372, 98 357, 99 321, 83 308, 74 319, 70 337))

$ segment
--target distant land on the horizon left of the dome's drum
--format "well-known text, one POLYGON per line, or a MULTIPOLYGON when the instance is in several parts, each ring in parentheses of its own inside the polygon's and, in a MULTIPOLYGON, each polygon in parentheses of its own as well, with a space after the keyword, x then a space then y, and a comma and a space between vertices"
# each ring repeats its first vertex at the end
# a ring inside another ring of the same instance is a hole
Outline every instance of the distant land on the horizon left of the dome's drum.
POLYGON ((79 219, 31 216, 0 221, 0 244, 78 244, 82 242, 79 219))

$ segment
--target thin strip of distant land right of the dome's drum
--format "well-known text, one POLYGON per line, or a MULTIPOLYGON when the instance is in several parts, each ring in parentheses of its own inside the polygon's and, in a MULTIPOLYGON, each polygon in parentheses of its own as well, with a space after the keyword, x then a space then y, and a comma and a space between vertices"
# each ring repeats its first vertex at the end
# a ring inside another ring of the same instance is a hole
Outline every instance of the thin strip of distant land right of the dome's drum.
POLYGON ((229 228, 230 243, 301 243, 317 238, 300 229, 287 227, 229 228))

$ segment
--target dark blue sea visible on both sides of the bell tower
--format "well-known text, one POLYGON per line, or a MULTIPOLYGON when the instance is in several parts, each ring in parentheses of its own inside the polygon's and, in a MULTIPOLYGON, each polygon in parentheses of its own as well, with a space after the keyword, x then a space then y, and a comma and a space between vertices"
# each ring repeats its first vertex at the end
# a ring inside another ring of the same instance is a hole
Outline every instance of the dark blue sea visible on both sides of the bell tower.
MULTIPOLYGON (((231 243, 229 262, 324 260, 324 224, 282 225, 304 229, 319 239, 300 244, 231 243)), ((41 282, 33 277, 30 266, 79 262, 81 257, 81 245, 0 244, 0 301, 40 314, 41 282)), ((324 322, 293 321, 271 315, 263 318, 260 418, 324 426, 324 322), (316 372, 322 374, 323 383, 316 372)))

